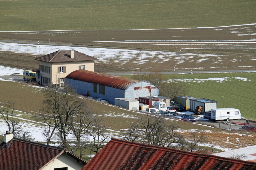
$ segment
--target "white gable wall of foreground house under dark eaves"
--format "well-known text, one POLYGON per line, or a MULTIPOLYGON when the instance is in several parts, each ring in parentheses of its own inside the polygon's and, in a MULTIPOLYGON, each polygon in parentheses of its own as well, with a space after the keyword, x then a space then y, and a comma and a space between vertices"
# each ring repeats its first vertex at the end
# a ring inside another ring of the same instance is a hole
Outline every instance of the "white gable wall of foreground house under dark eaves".
POLYGON ((76 159, 62 153, 56 159, 52 160, 47 166, 42 168, 42 170, 54 170, 54 168, 64 168, 68 167, 68 170, 80 170, 84 164, 78 163, 76 159))

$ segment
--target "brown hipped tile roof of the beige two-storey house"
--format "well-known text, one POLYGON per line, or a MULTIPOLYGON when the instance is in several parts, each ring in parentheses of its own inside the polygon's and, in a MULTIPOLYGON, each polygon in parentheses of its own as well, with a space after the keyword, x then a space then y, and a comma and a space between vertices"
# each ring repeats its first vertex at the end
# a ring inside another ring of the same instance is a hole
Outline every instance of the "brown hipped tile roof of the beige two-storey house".
POLYGON ((78 62, 78 61, 93 61, 98 60, 97 58, 91 57, 89 55, 80 53, 74 50, 74 58, 70 57, 70 50, 59 50, 53 53, 38 57, 35 60, 48 62, 48 63, 57 63, 57 62, 78 62))

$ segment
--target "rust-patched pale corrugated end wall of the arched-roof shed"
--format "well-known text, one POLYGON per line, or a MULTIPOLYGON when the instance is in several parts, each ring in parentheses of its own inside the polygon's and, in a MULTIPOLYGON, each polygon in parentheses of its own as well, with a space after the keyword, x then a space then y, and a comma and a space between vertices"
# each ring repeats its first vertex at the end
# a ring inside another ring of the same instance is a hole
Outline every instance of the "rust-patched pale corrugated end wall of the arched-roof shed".
POLYGON ((139 97, 146 97, 146 96, 158 96, 159 89, 151 83, 137 82, 132 84, 126 91, 125 91, 125 98, 138 100, 139 97))

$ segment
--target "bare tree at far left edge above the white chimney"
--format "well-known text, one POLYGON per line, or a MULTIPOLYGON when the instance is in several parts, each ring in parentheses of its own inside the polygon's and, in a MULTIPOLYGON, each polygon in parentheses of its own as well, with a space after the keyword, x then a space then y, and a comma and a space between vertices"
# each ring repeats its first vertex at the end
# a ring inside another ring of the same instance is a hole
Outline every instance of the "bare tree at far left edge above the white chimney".
POLYGON ((14 117, 14 105, 14 102, 7 102, 7 104, 0 109, 0 114, 7 123, 9 132, 13 133, 14 137, 17 137, 17 135, 22 132, 22 125, 25 122, 22 123, 19 119, 14 117))

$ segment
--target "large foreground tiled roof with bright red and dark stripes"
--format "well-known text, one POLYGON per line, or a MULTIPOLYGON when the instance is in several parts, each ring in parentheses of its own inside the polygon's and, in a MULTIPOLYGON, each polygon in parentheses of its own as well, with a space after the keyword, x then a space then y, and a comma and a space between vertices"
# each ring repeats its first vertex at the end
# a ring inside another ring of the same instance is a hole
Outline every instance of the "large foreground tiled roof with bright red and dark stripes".
POLYGON ((256 163, 111 139, 81 170, 251 170, 256 163))

